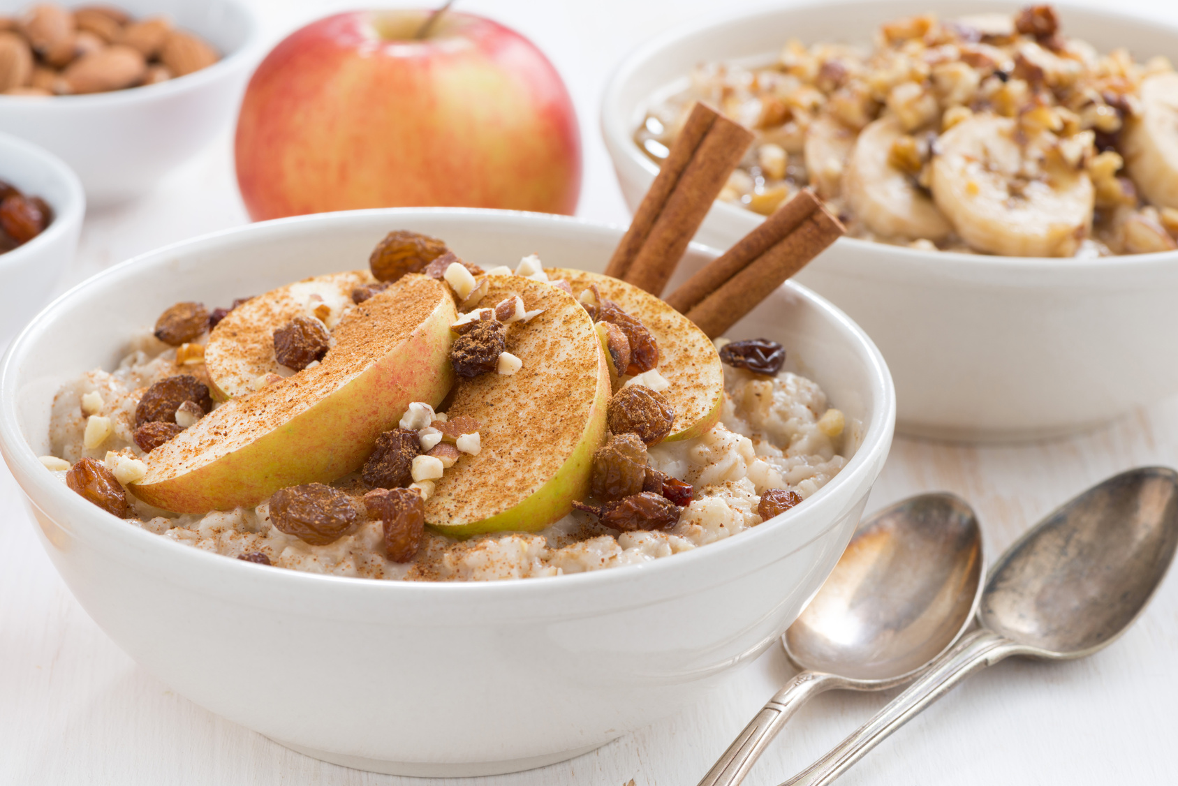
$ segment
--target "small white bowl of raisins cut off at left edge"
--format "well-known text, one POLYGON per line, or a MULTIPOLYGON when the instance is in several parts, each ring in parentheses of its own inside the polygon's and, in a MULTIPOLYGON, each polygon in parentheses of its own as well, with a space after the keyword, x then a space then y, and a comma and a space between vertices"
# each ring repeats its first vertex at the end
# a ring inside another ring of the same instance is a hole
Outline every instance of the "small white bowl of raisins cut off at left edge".
POLYGON ((45 305, 73 260, 85 212, 68 166, 0 134, 0 345, 45 305))

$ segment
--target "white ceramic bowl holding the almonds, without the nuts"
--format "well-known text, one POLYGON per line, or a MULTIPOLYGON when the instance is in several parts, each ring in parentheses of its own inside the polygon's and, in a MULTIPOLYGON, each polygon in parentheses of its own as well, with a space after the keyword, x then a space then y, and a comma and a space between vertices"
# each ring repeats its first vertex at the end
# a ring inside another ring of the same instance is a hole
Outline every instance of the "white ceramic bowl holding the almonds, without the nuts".
MULTIPOLYGON (((32 0, 0 0, 11 16, 32 0)), ((84 6, 85 0, 67 0, 84 6)), ((164 15, 221 53, 209 68, 159 85, 93 95, 0 97, 0 131, 60 156, 92 205, 140 196, 184 164, 237 117, 260 58, 252 6, 243 0, 119 0, 133 18, 164 15)))

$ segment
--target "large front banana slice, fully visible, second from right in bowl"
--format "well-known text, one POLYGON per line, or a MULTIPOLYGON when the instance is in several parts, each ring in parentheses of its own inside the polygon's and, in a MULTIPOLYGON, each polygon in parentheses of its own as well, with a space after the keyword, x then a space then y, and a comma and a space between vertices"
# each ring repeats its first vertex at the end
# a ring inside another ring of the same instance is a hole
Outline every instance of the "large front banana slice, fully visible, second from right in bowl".
POLYGON ((946 131, 933 157, 933 199, 978 251, 1073 256, 1092 229, 1092 180, 1052 154, 1053 134, 1020 139, 1013 119, 991 114, 946 131))

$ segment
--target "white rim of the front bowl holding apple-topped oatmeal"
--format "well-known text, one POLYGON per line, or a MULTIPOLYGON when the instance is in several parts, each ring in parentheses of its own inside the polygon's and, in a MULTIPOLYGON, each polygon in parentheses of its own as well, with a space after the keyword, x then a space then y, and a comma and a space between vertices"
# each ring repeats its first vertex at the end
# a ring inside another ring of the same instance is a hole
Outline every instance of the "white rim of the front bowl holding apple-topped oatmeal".
MULTIPOLYGON (((68 303, 71 299, 77 297, 79 292, 85 290, 92 282, 98 279, 112 277, 127 271, 128 269, 135 267, 138 265, 151 263, 152 259, 159 259, 161 257, 174 255, 177 252, 183 252, 186 247, 216 244, 223 242, 226 238, 232 238, 237 235, 252 233, 252 232, 280 232, 282 227, 291 224, 310 224, 316 222, 333 222, 342 220, 343 217, 353 216, 358 218, 369 216, 390 216, 390 217, 405 217, 410 219, 413 216, 454 216, 454 217, 487 217, 487 216, 503 216, 510 217, 515 220, 524 219, 527 222, 534 223, 534 225, 548 224, 564 224, 567 226, 589 229, 590 231, 596 230, 611 230, 620 229, 614 224, 604 224, 601 222, 593 222, 583 218, 574 218, 568 216, 555 216, 548 213, 529 213, 524 211, 505 211, 505 210, 485 210, 485 209, 474 209, 474 207, 390 207, 390 209, 371 209, 371 210, 357 210, 357 211, 344 211, 337 213, 318 213, 311 216, 294 216, 290 218, 279 218, 269 222, 259 222, 256 224, 246 224, 238 227, 232 227, 227 230, 221 230, 218 232, 211 232, 196 238, 190 238, 178 243, 172 243, 170 245, 163 246, 160 249, 148 251, 146 253, 138 255, 127 259, 123 263, 113 265, 85 282, 72 288, 70 291, 55 298, 49 305, 47 305, 32 322, 26 325, 20 333, 13 339, 4 358, 0 358, 0 447, 6 448, 5 457, 19 465, 20 474, 25 476, 28 482, 35 487, 38 495, 61 495, 62 484, 60 481, 54 478, 48 471, 45 470, 40 460, 34 455, 32 448, 25 442, 20 432, 20 427, 15 411, 15 392, 18 390, 18 382, 20 378, 20 372, 16 368, 18 359, 24 355, 25 345, 29 343, 34 333, 39 332, 45 325, 54 319, 55 312, 62 308, 62 304, 68 303)), ((707 253, 715 253, 714 249, 708 249, 699 244, 693 244, 695 250, 704 251, 707 253)), ((840 470, 840 473, 830 480, 822 489, 819 489, 807 502, 809 503, 802 510, 789 510, 781 514, 776 520, 760 524, 753 528, 750 531, 741 533, 740 537, 726 537, 722 541, 714 543, 708 543, 706 548, 696 548, 690 551, 681 553, 674 555, 674 559, 657 559, 650 562, 631 566, 618 566, 615 568, 608 568, 603 570, 590 570, 580 574, 569 574, 561 576, 538 576, 524 580, 502 580, 502 581, 485 581, 485 582, 418 582, 418 581, 404 581, 404 580, 375 580, 375 579, 358 579, 351 576, 336 576, 326 574, 305 573, 300 570, 266 570, 265 579, 259 577, 258 580, 272 581, 272 582, 287 582, 285 586, 291 587, 293 590, 296 587, 307 588, 313 587, 309 582, 326 582, 330 586, 337 587, 368 587, 373 588, 371 590, 362 592, 385 592, 385 593, 481 593, 479 597, 484 597, 487 593, 497 593, 499 595, 516 596, 517 593, 522 593, 523 596, 530 596, 530 594, 543 594, 551 593, 552 590, 560 590, 560 588, 565 588, 561 592, 577 592, 580 588, 597 587, 602 584, 626 582, 626 581, 643 581, 651 576, 657 576, 662 572, 677 570, 675 566, 683 566, 684 568, 700 559, 719 559, 723 549, 739 548, 740 543, 749 544, 750 539, 756 539, 761 530, 761 527, 780 528, 788 527, 800 514, 807 514, 812 511, 815 517, 821 517, 820 509, 828 506, 823 502, 830 497, 832 489, 838 486, 853 484, 859 482, 862 476, 872 471, 871 462, 873 457, 880 451, 887 451, 892 441, 892 432, 895 423, 895 389, 892 383, 892 376, 888 372, 887 364, 884 361, 884 356, 880 354, 879 349, 871 341, 871 338, 862 331, 859 325, 856 325, 847 315, 835 308, 832 303, 825 298, 815 295, 810 290, 795 284, 793 282, 787 282, 787 286, 794 290, 796 293, 801 295, 803 298, 810 300, 815 306, 819 308, 832 322, 841 326, 842 330, 847 331, 854 344, 858 345, 859 350, 865 354, 868 359, 868 375, 871 377, 871 387, 873 392, 873 398, 875 399, 875 405, 872 409, 873 422, 863 434, 863 438, 855 451, 855 455, 847 462, 846 467, 840 470), (823 494, 826 491, 826 494, 823 494), (736 541, 734 544, 733 541, 736 541), (700 551, 703 551, 701 556, 700 551), (714 554, 716 557, 708 557, 707 554, 714 554), (557 583, 552 583, 552 582, 557 583), (290 583, 293 582, 293 583, 290 583), (380 589, 376 589, 380 588, 380 589)), ((15 471, 14 471, 15 474, 15 471)), ((32 495, 28 495, 32 498, 32 495)), ((258 566, 246 564, 239 560, 226 559, 220 554, 213 554, 205 551, 204 549, 193 548, 191 546, 185 546, 171 541, 170 539, 163 537, 148 533, 138 527, 127 526, 124 521, 114 519, 110 514, 105 514, 97 509, 93 504, 85 501, 78 495, 64 495, 60 497, 65 501, 66 508, 70 510, 73 521, 86 522, 86 526, 97 528, 97 531, 101 534, 101 530, 106 530, 106 534, 114 537, 115 541, 124 541, 128 544, 137 544, 139 548, 144 549, 165 549, 164 554, 171 554, 179 560, 192 560, 196 561, 193 564, 201 566, 200 569, 211 570, 258 570, 258 566), (171 550, 167 550, 171 549, 171 550)), ((35 504, 35 498, 33 498, 35 504)), ((833 520, 833 511, 828 519, 833 520)), ((820 529, 813 533, 814 537, 822 534, 825 529, 820 529)), ((232 575, 232 574, 231 574, 232 575)), ((237 574, 239 577, 251 574, 237 574)), ((256 575, 256 574, 252 574, 256 575)))

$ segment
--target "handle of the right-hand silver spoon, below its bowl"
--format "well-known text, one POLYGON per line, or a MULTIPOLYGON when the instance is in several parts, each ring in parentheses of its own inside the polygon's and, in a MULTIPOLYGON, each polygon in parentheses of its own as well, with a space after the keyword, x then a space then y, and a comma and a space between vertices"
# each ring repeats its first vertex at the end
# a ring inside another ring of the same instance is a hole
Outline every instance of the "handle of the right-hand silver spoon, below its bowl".
POLYGON ((965 636, 933 661, 929 671, 898 695, 874 718, 859 727, 829 753, 781 786, 826 786, 846 772, 884 738, 900 728, 921 709, 948 693, 958 682, 986 666, 1013 655, 1020 647, 1010 639, 980 629, 965 636))

